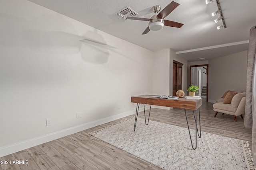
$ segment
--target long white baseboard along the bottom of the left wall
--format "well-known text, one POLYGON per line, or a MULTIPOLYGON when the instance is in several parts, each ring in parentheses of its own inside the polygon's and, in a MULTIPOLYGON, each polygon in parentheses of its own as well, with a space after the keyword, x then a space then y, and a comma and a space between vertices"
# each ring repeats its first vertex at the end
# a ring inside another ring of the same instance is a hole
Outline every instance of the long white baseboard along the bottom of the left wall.
MULTIPOLYGON (((145 107, 145 109, 149 109, 149 108, 150 108, 149 106, 145 107)), ((143 107, 141 107, 139 109, 139 111, 143 111, 143 110, 144 110, 143 107)), ((116 119, 120 119, 122 117, 126 117, 126 116, 129 116, 129 115, 135 114, 135 112, 136 112, 136 110, 127 111, 127 112, 120 113, 120 114, 117 114, 117 115, 113 115, 113 116, 110 116, 110 117, 105 117, 105 118, 102 118, 102 119, 98 119, 98 120, 95 120, 95 121, 84 123, 82 125, 77 125, 77 126, 74 126, 74 127, 70 127, 68 129, 63 129, 61 131, 56 131, 54 133, 46 134, 46 135, 36 137, 36 138, 33 138, 33 139, 28 139, 26 141, 21 141, 19 143, 15 143, 15 144, 12 144, 12 145, 7 145, 5 147, 0 148, 0 157, 6 156, 8 154, 12 154, 12 153, 24 150, 24 149, 35 147, 37 145, 41 145, 43 143, 50 142, 50 141, 53 141, 55 139, 59 139, 61 137, 65 137, 65 136, 68 136, 68 135, 71 135, 71 134, 74 134, 74 133, 77 133, 77 132, 80 132, 80 131, 84 131, 86 129, 89 129, 89 128, 92 128, 92 127, 95 127, 95 126, 102 125, 104 123, 108 123, 110 121, 114 121, 116 119)))

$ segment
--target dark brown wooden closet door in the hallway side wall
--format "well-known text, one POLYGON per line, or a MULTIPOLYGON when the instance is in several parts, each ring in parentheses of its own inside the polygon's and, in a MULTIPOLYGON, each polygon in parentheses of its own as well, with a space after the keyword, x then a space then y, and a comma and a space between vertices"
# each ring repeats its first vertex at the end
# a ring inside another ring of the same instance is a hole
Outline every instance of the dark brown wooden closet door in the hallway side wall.
POLYGON ((176 92, 182 90, 182 66, 182 63, 172 61, 172 96, 176 96, 176 92))

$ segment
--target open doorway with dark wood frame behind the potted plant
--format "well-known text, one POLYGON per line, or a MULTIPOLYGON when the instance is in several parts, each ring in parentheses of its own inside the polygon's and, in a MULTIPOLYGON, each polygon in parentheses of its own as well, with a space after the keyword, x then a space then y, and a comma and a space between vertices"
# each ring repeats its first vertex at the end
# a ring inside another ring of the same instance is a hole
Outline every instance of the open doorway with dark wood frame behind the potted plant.
POLYGON ((209 64, 190 66, 190 86, 199 87, 199 96, 206 97, 208 102, 208 70, 209 64))

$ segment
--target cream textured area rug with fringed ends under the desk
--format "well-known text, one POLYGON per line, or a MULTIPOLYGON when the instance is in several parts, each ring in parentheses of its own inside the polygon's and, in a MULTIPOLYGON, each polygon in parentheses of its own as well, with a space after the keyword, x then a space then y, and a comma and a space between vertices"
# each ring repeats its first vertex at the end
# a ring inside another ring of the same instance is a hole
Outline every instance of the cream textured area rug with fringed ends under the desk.
MULTIPOLYGON (((254 169, 248 141, 202 132, 193 150, 188 129, 134 117, 90 135, 137 156, 164 170, 254 169)), ((190 129, 192 140, 195 130, 190 129)))

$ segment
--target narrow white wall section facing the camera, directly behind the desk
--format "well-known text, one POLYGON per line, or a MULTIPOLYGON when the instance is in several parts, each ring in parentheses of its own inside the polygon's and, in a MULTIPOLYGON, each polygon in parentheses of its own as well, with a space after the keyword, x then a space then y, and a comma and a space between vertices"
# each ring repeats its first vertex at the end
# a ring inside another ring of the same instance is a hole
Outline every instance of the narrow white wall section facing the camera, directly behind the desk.
MULTIPOLYGON (((164 49, 154 52, 153 71, 153 94, 169 95, 170 94, 170 49, 164 49)), ((170 107, 153 106, 155 108, 170 109, 170 107)))

